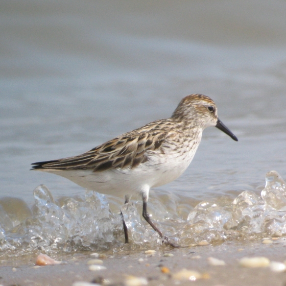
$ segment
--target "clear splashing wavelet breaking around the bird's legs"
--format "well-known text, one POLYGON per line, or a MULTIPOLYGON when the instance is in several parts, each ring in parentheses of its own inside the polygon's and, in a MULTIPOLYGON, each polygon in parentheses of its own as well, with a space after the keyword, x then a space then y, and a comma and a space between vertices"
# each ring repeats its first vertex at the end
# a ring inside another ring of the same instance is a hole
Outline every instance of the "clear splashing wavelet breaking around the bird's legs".
MULTIPOLYGON (((158 193, 148 202, 154 224, 177 245, 221 244, 227 240, 261 239, 286 234, 286 187, 275 171, 266 175, 266 185, 259 194, 245 190, 231 200, 202 201, 193 209, 181 200, 188 215, 180 215, 178 201, 158 193), (154 201, 154 202, 153 202, 154 201), (171 207, 170 207, 171 205, 171 207), (157 210, 158 209, 158 213, 157 210)), ((14 198, 15 199, 15 198, 14 198)), ((34 190, 33 212, 23 201, 0 200, 0 255, 14 256, 31 251, 45 254, 77 250, 125 249, 123 218, 128 227, 129 249, 154 248, 162 239, 142 219, 141 201, 128 202, 117 212, 109 208, 106 197, 86 190, 84 195, 55 200, 50 190, 40 185, 34 190), (138 212, 139 209, 139 212, 138 212), (122 215, 120 214, 122 212, 122 215)), ((113 206, 118 199, 109 197, 113 206)), ((177 199, 176 199, 177 200, 177 199)))

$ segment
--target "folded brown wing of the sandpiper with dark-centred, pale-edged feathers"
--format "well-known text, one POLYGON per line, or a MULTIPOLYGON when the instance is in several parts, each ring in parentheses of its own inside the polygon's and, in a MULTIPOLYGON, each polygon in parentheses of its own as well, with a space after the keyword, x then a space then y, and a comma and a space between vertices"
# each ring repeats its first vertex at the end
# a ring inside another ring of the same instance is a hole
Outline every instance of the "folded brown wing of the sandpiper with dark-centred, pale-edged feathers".
POLYGON ((115 168, 135 168, 148 160, 146 151, 156 150, 168 132, 146 125, 122 134, 81 155, 53 161, 33 163, 33 169, 86 170, 102 172, 115 168))

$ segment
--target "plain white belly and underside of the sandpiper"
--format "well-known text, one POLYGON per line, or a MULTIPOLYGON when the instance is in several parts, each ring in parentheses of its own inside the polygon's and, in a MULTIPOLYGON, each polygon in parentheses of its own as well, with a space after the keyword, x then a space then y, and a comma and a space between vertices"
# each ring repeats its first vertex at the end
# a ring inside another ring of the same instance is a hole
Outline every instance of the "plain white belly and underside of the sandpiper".
POLYGON ((39 171, 65 177, 84 188, 102 194, 124 197, 126 194, 148 193, 149 188, 172 182, 184 173, 193 160, 199 141, 191 150, 173 150, 168 155, 147 151, 149 160, 134 169, 112 169, 104 172, 45 169, 39 171))

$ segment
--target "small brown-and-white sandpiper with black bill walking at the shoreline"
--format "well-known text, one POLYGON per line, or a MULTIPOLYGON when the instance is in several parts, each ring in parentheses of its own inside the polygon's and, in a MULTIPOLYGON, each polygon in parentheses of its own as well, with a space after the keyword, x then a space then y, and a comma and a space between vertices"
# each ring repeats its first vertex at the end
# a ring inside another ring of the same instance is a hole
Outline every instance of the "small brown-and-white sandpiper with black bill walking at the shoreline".
MULTIPOLYGON (((124 133, 78 156, 33 163, 33 170, 60 175, 103 194, 139 193, 142 216, 168 243, 168 237, 163 236, 147 212, 149 190, 184 173, 198 149, 203 130, 209 126, 237 141, 219 120, 216 104, 203 94, 191 94, 181 100, 170 118, 124 133)), ((124 220, 123 224, 128 243, 124 220)))

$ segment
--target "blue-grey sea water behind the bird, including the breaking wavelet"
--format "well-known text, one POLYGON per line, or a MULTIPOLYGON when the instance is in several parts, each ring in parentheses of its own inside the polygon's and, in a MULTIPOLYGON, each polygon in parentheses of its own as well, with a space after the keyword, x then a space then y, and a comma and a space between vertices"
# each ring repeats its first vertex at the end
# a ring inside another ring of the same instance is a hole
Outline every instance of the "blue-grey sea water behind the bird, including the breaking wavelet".
MULTIPOLYGON (((150 213, 178 243, 228 240, 211 223, 207 227, 211 233, 198 236, 197 241, 193 230, 185 228, 191 220, 198 223, 194 211, 202 211, 200 207, 212 213, 210 222, 213 211, 223 208, 224 227, 235 212, 229 207, 239 196, 263 205, 260 193, 269 171, 286 179, 285 12, 282 1, 3 1, 3 255, 11 249, 20 255, 24 245, 29 245, 27 251, 47 253, 59 245, 67 252, 123 247, 118 216, 123 202, 91 194, 62 177, 30 171, 30 164, 83 153, 118 134, 169 117, 181 98, 191 93, 211 97, 220 119, 239 141, 216 128, 206 129, 187 171, 151 190, 150 213), (41 184, 46 188, 37 188, 41 184), (103 214, 97 212, 100 205, 103 214), (53 211, 57 222, 49 217, 53 211), (94 220, 90 233, 76 227, 84 216, 100 220, 94 220), (102 229, 98 233, 97 224, 102 229), (33 239, 27 236, 32 229, 33 239), (51 235, 42 237, 46 229, 51 235)), ((280 191, 283 197, 283 183, 280 191)), ((133 197, 129 210, 123 209, 133 245, 160 244, 140 221, 140 205, 140 198, 133 197)), ((275 231, 283 234, 281 224, 275 231)), ((247 239, 259 231, 275 233, 263 227, 248 229, 232 239, 247 239)))

